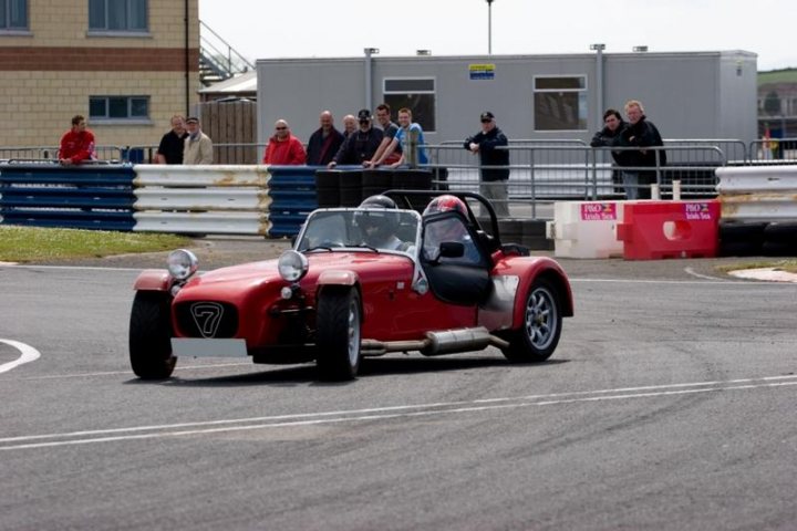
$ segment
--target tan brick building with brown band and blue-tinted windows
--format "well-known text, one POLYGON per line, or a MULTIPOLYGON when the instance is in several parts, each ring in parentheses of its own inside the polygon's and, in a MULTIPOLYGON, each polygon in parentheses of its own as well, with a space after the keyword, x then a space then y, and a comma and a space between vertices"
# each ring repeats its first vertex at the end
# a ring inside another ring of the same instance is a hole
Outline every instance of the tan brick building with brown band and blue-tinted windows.
POLYGON ((73 115, 97 144, 157 144, 199 101, 198 0, 0 2, 0 147, 54 146, 73 115))

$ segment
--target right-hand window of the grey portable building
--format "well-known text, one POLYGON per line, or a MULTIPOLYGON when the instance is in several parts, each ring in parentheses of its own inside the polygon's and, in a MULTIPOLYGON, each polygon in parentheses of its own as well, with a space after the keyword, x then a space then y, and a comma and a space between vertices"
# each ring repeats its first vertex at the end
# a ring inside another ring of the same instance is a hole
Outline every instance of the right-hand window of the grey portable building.
POLYGON ((535 76, 535 131, 587 131, 587 76, 535 76))

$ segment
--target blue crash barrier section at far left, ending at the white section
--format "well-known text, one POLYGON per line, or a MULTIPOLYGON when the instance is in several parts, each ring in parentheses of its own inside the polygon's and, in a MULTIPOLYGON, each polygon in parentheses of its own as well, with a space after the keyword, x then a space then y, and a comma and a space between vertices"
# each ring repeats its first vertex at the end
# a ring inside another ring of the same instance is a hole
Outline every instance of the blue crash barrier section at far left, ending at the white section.
POLYGON ((131 165, 0 164, 0 223, 133 230, 131 165))

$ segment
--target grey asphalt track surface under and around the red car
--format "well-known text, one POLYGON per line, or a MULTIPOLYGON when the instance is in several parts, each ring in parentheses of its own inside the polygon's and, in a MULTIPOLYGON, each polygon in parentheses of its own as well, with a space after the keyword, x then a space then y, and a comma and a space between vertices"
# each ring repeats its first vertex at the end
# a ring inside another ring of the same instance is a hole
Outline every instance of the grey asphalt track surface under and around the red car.
POLYGON ((345 384, 135 379, 131 285, 162 253, 0 267, 0 529, 794 529, 797 284, 725 261, 562 260, 548 363, 398 354, 345 384))

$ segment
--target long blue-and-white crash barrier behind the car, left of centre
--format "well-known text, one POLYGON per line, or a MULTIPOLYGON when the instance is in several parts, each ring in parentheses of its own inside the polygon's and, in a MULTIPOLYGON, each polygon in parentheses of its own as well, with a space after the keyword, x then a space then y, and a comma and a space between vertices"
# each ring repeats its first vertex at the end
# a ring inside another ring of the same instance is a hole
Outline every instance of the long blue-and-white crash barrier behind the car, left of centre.
POLYGON ((331 202, 324 207, 356 206, 364 192, 401 188, 397 179, 408 174, 377 170, 364 177, 360 166, 327 170, 320 166, 8 163, 0 164, 0 222, 292 237, 327 194, 321 194, 317 173, 335 177, 335 197, 327 198, 331 202), (268 201, 258 199, 260 194, 268 201))

